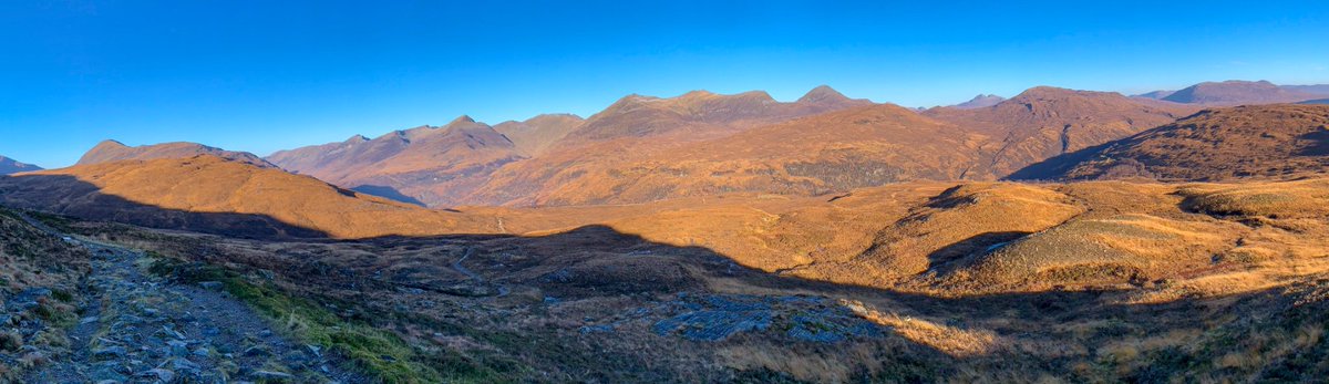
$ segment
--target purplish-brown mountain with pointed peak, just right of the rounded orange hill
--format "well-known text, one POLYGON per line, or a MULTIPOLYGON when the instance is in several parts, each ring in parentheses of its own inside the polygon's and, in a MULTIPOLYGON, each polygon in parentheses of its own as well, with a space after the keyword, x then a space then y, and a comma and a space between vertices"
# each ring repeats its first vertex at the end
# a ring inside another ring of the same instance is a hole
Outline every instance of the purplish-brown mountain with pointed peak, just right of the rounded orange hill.
POLYGON ((373 140, 278 151, 282 169, 397 201, 447 206, 490 173, 524 158, 512 140, 470 117, 445 126, 397 130, 373 140))

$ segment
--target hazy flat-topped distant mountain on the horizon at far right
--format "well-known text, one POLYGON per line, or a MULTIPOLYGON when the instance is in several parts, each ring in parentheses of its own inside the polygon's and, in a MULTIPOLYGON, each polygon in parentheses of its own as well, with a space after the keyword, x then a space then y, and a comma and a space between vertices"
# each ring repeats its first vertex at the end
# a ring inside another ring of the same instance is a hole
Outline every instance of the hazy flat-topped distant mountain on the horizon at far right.
POLYGON ((1164 101, 1204 105, 1276 104, 1317 98, 1313 93, 1289 90, 1268 81, 1229 80, 1200 82, 1174 92, 1164 101))

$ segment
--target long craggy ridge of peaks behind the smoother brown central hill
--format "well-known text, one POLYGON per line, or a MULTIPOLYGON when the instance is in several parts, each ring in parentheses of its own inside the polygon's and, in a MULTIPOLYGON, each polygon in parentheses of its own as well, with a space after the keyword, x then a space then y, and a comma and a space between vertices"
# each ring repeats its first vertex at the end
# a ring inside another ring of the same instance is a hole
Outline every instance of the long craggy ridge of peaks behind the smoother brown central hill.
POLYGON ((712 140, 864 105, 872 102, 845 97, 829 86, 817 86, 795 102, 779 102, 766 92, 696 90, 672 98, 633 94, 585 120, 542 114, 489 126, 461 117, 443 128, 421 126, 373 140, 356 136, 340 144, 278 151, 267 159, 294 173, 399 201, 428 206, 482 203, 490 201, 472 195, 492 183, 494 173, 518 162, 557 159, 526 171, 530 177, 552 175, 574 162, 585 162, 582 154, 607 153, 585 150, 591 146, 618 150, 712 140))

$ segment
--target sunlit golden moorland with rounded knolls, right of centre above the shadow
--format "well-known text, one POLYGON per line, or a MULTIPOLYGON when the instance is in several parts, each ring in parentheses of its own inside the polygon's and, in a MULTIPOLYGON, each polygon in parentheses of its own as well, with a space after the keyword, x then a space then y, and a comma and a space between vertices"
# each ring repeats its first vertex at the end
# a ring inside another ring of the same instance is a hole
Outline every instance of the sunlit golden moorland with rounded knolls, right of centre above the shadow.
POLYGON ((512 233, 605 225, 651 242, 704 246, 768 272, 898 291, 949 296, 1147 286, 1158 295, 1180 287, 1219 295, 1326 271, 1326 189, 1325 178, 905 182, 833 198, 740 193, 465 211, 497 217, 512 233), (1244 283, 1219 284, 1217 276, 1244 283))

